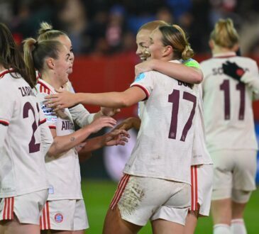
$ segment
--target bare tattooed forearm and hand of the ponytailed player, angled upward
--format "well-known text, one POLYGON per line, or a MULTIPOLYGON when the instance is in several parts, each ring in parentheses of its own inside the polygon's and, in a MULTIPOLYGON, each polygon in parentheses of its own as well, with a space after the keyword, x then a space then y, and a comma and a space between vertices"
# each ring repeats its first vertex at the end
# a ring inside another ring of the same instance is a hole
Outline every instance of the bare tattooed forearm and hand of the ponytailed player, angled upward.
POLYGON ((50 129, 53 135, 54 141, 50 146, 50 150, 48 150, 48 156, 56 156, 61 155, 67 150, 72 149, 79 143, 82 143, 86 138, 97 131, 101 130, 101 128, 109 127, 113 128, 116 125, 116 121, 111 117, 101 117, 96 121, 93 121, 91 124, 84 126, 83 128, 71 133, 69 135, 59 136, 56 133, 55 129, 50 129))

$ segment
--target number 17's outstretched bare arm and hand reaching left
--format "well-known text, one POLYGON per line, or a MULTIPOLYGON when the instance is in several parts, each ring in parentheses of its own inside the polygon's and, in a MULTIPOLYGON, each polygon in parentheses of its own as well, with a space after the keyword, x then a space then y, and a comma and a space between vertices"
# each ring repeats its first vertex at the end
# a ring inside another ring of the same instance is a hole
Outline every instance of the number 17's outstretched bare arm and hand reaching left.
POLYGON ((50 99, 47 104, 57 106, 57 108, 65 108, 74 106, 75 104, 89 104, 96 106, 106 106, 110 108, 121 108, 132 106, 143 101, 146 98, 145 91, 140 87, 131 87, 122 92, 109 92, 99 94, 77 93, 72 94, 68 91, 59 91, 57 94, 51 94, 45 99, 50 99))

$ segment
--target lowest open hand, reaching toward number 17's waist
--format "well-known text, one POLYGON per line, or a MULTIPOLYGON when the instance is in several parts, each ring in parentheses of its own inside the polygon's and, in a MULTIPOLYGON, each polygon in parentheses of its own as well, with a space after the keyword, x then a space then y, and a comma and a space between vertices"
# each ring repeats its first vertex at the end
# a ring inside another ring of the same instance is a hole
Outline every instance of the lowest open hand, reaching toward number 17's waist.
POLYGON ((104 134, 102 137, 104 146, 125 145, 128 143, 128 138, 131 138, 128 132, 123 129, 111 130, 111 132, 104 134))

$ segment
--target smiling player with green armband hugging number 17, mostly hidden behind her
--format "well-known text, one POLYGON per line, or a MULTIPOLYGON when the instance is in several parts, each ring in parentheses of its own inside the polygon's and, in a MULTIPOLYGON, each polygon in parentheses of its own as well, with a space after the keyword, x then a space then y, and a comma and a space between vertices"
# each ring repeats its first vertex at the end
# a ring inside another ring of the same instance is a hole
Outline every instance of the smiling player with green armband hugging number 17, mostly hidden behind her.
MULTIPOLYGON (((156 70, 158 70, 158 72, 167 74, 170 77, 175 77, 176 79, 179 79, 183 82, 197 83, 202 80, 202 72, 199 68, 199 63, 195 60, 183 60, 182 64, 184 65, 180 65, 172 62, 153 60, 148 57, 149 35, 155 28, 162 25, 165 25, 165 22, 151 21, 149 23, 145 23, 138 30, 136 38, 138 50, 136 51, 136 54, 140 56, 140 59, 143 61, 143 63, 136 65, 136 74, 143 71, 150 71, 154 67, 156 70), (191 73, 191 75, 188 75, 189 73, 191 73)), ((194 233, 198 216, 209 216, 213 179, 213 166, 211 165, 212 161, 205 145, 202 86, 195 84, 194 89, 197 89, 198 103, 191 167, 192 206, 188 213, 187 221, 184 227, 184 233, 186 234, 194 233)), ((125 130, 136 128, 138 130, 140 128, 140 123, 140 118, 128 118, 119 124, 119 126, 116 126, 116 128, 125 130)))

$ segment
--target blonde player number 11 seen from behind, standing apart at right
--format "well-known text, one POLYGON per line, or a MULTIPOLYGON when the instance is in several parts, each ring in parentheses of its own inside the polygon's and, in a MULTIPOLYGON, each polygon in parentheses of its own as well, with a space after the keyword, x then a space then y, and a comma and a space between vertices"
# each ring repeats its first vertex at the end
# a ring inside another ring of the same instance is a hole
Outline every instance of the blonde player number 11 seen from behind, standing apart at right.
POLYGON ((256 62, 236 56, 238 42, 231 19, 220 19, 209 40, 213 57, 201 64, 206 145, 214 161, 211 203, 214 234, 247 233, 243 212, 255 189, 258 146, 253 121, 253 89, 223 72, 225 65, 236 63, 243 68, 236 69, 239 77, 245 72, 246 77, 258 79, 256 62))

